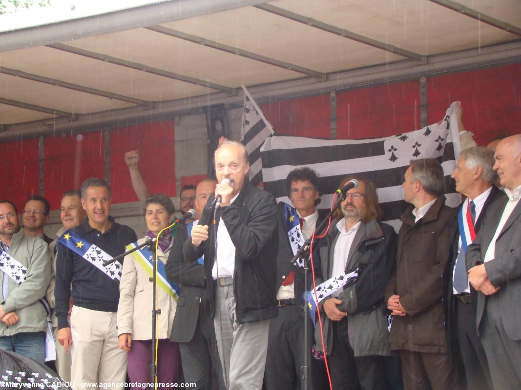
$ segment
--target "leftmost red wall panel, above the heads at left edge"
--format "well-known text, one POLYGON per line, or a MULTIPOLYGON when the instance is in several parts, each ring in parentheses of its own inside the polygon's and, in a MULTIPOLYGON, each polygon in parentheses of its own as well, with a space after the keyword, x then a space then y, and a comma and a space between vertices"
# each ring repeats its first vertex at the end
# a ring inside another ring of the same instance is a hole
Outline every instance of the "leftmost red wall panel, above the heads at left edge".
POLYGON ((0 198, 15 203, 18 211, 23 202, 39 192, 38 138, 0 143, 0 198))

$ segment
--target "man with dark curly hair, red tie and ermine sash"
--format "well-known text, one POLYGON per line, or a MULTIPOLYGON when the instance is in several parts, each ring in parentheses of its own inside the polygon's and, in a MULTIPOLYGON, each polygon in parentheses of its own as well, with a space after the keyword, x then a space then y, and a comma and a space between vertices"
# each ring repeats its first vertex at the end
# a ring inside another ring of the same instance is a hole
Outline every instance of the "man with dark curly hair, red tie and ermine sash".
MULTIPOLYGON (((304 291, 312 285, 311 271, 308 274, 307 288, 304 286, 304 270, 290 263, 297 249, 297 241, 309 238, 319 225, 316 209, 320 202, 319 180, 315 171, 308 167, 296 168, 286 178, 289 204, 278 204, 277 253, 277 302, 279 315, 270 320, 268 334, 268 358, 264 372, 266 390, 303 388, 301 367, 304 366, 304 291), (291 209, 291 210, 290 210, 291 209), (291 228, 292 229, 289 229, 291 228), (300 230, 297 228, 300 227, 300 230), (288 232, 288 230, 290 230, 288 232), (293 243, 293 244, 292 244, 293 243), (277 357, 274 359, 274 357, 277 357)), ((308 341, 311 348, 313 324, 309 321, 308 341)), ((311 358, 309 388, 325 388, 324 362, 311 358), (322 368, 324 366, 324 368, 322 368)))

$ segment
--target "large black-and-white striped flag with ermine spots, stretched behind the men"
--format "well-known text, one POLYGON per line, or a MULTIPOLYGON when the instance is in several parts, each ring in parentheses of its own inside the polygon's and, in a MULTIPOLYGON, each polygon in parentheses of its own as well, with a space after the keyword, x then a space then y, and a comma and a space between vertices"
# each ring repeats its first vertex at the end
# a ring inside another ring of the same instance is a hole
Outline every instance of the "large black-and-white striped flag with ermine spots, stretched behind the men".
MULTIPOLYGON (((251 100, 251 99, 250 99, 251 100)), ((422 129, 373 139, 317 139, 272 134, 262 144, 262 172, 264 189, 277 201, 291 204, 286 190, 286 177, 296 167, 308 166, 320 176, 321 209, 329 209, 333 193, 343 177, 358 174, 373 180, 384 219, 395 228, 406 209, 403 200, 403 175, 412 159, 437 158, 445 174, 446 204, 457 206, 461 195, 450 178, 460 152, 460 138, 454 103, 447 110, 442 123, 422 129)), ((260 114, 262 115, 262 113, 260 114)), ((261 131, 256 131, 261 134, 261 131)), ((266 134, 266 133, 265 133, 266 134)), ((252 139, 248 134, 244 139, 252 139)), ((255 164, 258 163, 258 157, 255 164)))

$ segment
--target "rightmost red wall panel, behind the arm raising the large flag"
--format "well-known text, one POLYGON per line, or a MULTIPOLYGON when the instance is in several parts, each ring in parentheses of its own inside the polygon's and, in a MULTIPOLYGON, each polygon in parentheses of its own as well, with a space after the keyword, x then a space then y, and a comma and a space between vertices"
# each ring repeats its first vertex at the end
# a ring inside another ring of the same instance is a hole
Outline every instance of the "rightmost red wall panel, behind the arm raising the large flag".
POLYGON ((453 101, 461 101, 463 123, 478 145, 494 136, 520 132, 521 64, 461 72, 427 81, 429 122, 441 119, 453 101))

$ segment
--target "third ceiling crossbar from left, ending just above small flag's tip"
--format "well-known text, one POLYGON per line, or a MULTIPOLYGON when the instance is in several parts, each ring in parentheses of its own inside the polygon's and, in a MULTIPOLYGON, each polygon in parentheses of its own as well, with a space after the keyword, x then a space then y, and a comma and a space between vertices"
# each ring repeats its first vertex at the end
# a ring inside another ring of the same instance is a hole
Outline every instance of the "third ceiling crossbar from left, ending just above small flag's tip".
POLYGON ((79 56, 112 63, 112 64, 119 65, 122 67, 155 74, 158 76, 168 77, 169 79, 179 80, 179 81, 183 81, 185 83, 190 83, 190 84, 195 84, 195 85, 200 85, 200 86, 210 88, 210 89, 216 89, 221 92, 226 92, 229 95, 235 95, 237 93, 237 89, 227 87, 225 85, 215 84, 215 83, 212 83, 212 82, 209 82, 206 80, 196 79, 195 77, 185 76, 185 75, 182 75, 179 73, 173 73, 173 72, 169 72, 167 70, 153 68, 153 67, 145 65, 143 63, 127 61, 122 58, 116 58, 116 57, 108 56, 106 54, 96 53, 95 51, 90 51, 90 50, 80 49, 78 47, 64 45, 63 43, 55 43, 55 44, 46 45, 46 46, 51 47, 53 49, 57 49, 57 50, 67 51, 67 53, 72 53, 72 54, 76 54, 79 56))

